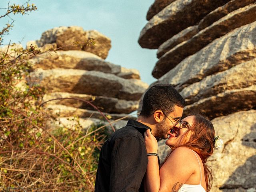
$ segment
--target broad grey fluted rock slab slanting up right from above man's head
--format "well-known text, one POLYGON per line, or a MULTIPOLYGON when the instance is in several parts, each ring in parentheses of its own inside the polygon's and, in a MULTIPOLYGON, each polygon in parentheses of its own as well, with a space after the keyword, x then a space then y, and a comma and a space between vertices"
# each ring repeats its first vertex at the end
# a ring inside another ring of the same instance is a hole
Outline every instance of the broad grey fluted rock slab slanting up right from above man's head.
POLYGON ((187 57, 156 83, 168 83, 177 90, 256 57, 256 22, 214 40, 187 57))

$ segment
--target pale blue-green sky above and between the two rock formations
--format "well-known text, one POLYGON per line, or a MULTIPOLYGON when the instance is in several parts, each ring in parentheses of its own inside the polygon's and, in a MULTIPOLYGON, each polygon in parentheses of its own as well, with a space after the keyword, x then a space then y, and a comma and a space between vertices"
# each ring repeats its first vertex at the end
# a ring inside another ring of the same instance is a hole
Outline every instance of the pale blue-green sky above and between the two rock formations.
MULTIPOLYGON (((24 4, 26 0, 0 0, 0 8, 10 4, 24 4)), ((29 40, 38 40, 41 34, 58 26, 81 26, 84 30, 98 30, 111 39, 112 48, 106 61, 139 70, 141 80, 156 81, 151 72, 156 64, 156 51, 141 48, 140 31, 146 25, 146 14, 154 0, 30 0, 38 10, 28 15, 11 15, 13 29, 4 36, 23 47, 29 40)), ((6 10, 0 9, 2 15, 6 10)), ((3 28, 10 18, 1 18, 3 28)))

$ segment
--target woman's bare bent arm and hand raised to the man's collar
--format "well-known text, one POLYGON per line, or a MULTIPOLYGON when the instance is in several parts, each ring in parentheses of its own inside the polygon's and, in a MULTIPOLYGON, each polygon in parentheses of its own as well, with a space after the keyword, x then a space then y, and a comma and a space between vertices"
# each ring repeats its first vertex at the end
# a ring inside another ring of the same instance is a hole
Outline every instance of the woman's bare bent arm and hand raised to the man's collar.
MULTIPOLYGON (((149 130, 145 132, 147 153, 157 153, 157 141, 149 130)), ((159 171, 157 156, 148 156, 146 171, 147 192, 178 192, 194 173, 195 156, 184 147, 175 149, 159 171)))

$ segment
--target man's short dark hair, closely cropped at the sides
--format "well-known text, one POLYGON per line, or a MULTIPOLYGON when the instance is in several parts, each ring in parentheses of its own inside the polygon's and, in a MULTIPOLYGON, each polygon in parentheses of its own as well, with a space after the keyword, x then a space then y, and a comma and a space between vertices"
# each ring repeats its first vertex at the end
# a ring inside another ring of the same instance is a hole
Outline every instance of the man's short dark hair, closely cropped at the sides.
POLYGON ((178 91, 169 84, 156 84, 144 94, 140 116, 149 117, 156 110, 169 114, 174 111, 175 105, 182 108, 185 106, 178 91))

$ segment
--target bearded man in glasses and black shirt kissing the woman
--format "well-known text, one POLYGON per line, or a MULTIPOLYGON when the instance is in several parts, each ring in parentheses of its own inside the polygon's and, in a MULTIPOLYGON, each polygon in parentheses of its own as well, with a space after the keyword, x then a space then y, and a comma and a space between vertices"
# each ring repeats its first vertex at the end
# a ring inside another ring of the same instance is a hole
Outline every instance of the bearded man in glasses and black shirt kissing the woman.
POLYGON ((168 84, 148 89, 137 120, 129 120, 104 143, 95 182, 95 192, 144 191, 143 177, 148 157, 144 132, 167 139, 170 129, 179 126, 183 108, 182 96, 168 84))

